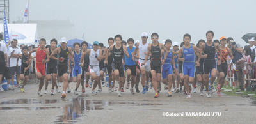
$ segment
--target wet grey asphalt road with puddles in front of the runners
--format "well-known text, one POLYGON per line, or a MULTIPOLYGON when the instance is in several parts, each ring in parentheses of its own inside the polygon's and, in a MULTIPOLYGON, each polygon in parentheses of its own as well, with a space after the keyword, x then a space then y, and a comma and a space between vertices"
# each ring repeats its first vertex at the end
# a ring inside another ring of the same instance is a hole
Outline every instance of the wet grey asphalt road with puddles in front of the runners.
MULTIPOLYGON (((51 85, 49 85, 51 87, 51 85)), ((37 95, 38 85, 26 85, 26 93, 15 91, 0 92, 0 123, 255 123, 256 103, 249 98, 228 96, 216 93, 211 98, 191 93, 186 98, 183 93, 172 93, 167 97, 166 90, 154 98, 154 90, 149 89, 142 94, 131 95, 125 89, 122 97, 117 92, 108 93, 103 87, 103 93, 92 95, 91 88, 86 93, 74 95, 76 84, 70 83, 72 93, 61 99, 61 93, 42 97, 37 95), (190 112, 190 113, 189 113, 190 112), (189 116, 190 114, 215 113, 217 116, 189 116), (181 116, 166 116, 166 114, 180 114, 181 116), (188 115, 186 115, 188 114, 188 115), (164 116, 163 116, 164 115, 164 116), (219 116, 220 115, 220 116, 219 116)), ((44 89, 44 87, 43 87, 44 89)), ((62 91, 62 86, 61 86, 62 91)), ((78 91, 81 91, 79 87, 78 91)), ((44 90, 42 90, 44 93, 44 90)))

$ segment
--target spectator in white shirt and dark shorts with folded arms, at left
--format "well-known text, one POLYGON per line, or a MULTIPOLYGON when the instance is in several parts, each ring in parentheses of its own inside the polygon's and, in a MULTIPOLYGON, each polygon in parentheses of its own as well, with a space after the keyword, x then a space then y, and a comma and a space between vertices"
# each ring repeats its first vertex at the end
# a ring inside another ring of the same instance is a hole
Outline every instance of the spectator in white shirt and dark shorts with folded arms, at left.
POLYGON ((19 54, 21 54, 21 50, 19 47, 17 47, 17 43, 18 43, 18 40, 16 39, 13 39, 11 45, 12 47, 10 47, 10 49, 8 50, 8 54, 10 55, 9 56, 9 59, 10 59, 10 70, 11 70, 11 74, 12 74, 12 84, 13 84, 13 88, 14 87, 14 75, 16 73, 16 81, 17 82, 20 82, 20 65, 21 65, 21 60, 19 59, 18 63, 17 63, 17 57, 19 56, 19 54), (18 66, 16 66, 18 65, 18 66))

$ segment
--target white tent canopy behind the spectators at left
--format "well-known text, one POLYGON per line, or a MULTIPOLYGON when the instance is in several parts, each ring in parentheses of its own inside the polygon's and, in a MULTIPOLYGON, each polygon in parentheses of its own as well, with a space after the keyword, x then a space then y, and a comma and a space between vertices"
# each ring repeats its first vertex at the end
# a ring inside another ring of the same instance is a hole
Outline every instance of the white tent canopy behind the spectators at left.
MULTIPOLYGON (((0 24, 0 32, 4 32, 3 26, 4 24, 0 24)), ((18 40, 18 44, 35 44, 35 40, 38 40, 37 24, 7 24, 7 26, 10 39, 15 38, 17 33, 26 37, 24 40, 18 40)))

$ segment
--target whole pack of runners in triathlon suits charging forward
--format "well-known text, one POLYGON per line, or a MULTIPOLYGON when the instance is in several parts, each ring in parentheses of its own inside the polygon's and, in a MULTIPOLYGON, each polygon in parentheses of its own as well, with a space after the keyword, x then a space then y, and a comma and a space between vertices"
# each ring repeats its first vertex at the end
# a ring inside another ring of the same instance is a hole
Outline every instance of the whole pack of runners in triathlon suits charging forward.
POLYGON ((201 96, 204 95, 202 92, 204 87, 207 92, 206 97, 211 97, 216 89, 218 96, 221 96, 221 88, 227 75, 227 61, 230 61, 233 56, 231 50, 225 47, 227 42, 225 36, 220 38, 220 42, 213 42, 213 37, 214 33, 207 31, 207 41, 201 39, 194 45, 191 43, 191 35, 185 34, 183 42, 180 43, 180 49, 179 43, 172 43, 170 39, 159 43, 157 33, 152 33, 152 43, 148 42, 147 33, 141 34, 142 42, 134 41, 133 38, 125 42, 121 35, 116 35, 114 38, 108 38, 109 47, 105 49, 103 44, 97 41, 93 42, 93 49, 87 49, 88 43, 83 41, 81 44, 74 43, 74 50, 72 50, 71 47, 67 47, 67 38, 61 38, 60 47, 56 47, 58 42, 52 39, 51 47, 45 49, 46 41, 41 39, 40 47, 29 53, 28 47, 22 47, 23 54, 19 56, 22 59, 22 75, 20 75, 22 88, 20 90, 25 92, 24 86, 29 78, 29 62, 36 58, 35 70, 36 77, 40 79, 38 89, 40 96, 42 96, 40 91, 44 85, 45 74, 45 93, 47 93, 48 81, 52 81, 51 95, 54 95, 54 87, 60 87, 63 82, 62 98, 66 97, 67 88, 70 93, 69 75, 72 81, 76 82, 74 90, 76 95, 79 94, 77 90, 80 84, 82 93, 85 92, 84 77, 86 77, 85 86, 92 87, 94 95, 102 92, 102 86, 108 86, 109 93, 117 91, 118 97, 122 96, 121 92, 124 92, 124 87, 130 89, 131 94, 134 94, 134 88, 137 93, 140 93, 138 85, 141 80, 143 87, 141 93, 145 94, 148 89, 154 88, 154 98, 159 97, 161 81, 165 84, 164 89, 168 89, 167 96, 172 96, 171 92, 183 91, 188 95, 187 98, 191 98, 192 87, 193 92, 196 93, 196 82, 200 83, 201 96), (36 52, 36 56, 32 58, 33 52, 36 52), (45 63, 47 63, 46 66, 45 63), (106 85, 104 75, 107 73, 109 84, 106 85), (211 74, 211 80, 209 74, 211 74), (218 85, 214 89, 216 74, 218 85), (209 81, 211 81, 210 88, 209 81), (130 83, 131 88, 129 88, 130 83), (99 89, 95 91, 97 86, 99 89), (171 90, 172 86, 173 90, 171 90), (184 86, 183 90, 182 86, 184 86))

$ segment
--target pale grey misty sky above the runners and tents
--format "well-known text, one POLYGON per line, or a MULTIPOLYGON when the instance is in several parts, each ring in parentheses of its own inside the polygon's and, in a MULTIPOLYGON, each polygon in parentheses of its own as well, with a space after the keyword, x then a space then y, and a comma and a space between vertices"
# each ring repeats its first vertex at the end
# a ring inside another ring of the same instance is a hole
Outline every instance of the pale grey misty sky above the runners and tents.
MULTIPOLYGON (((27 0, 10 1, 10 23, 22 19, 27 0)), ((191 42, 206 39, 208 30, 214 39, 233 37, 241 45, 246 33, 256 33, 255 0, 180 0, 180 1, 84 1, 84 0, 30 0, 29 20, 69 20, 75 25, 74 34, 85 40, 95 40, 108 46, 108 38, 117 34, 124 40, 141 41, 141 33, 156 32, 159 41, 169 38, 182 42, 189 33, 191 42)), ((72 38, 68 38, 72 39, 72 38)), ((57 39, 58 40, 58 39, 57 39)), ((148 39, 148 42, 152 42, 148 39)))

